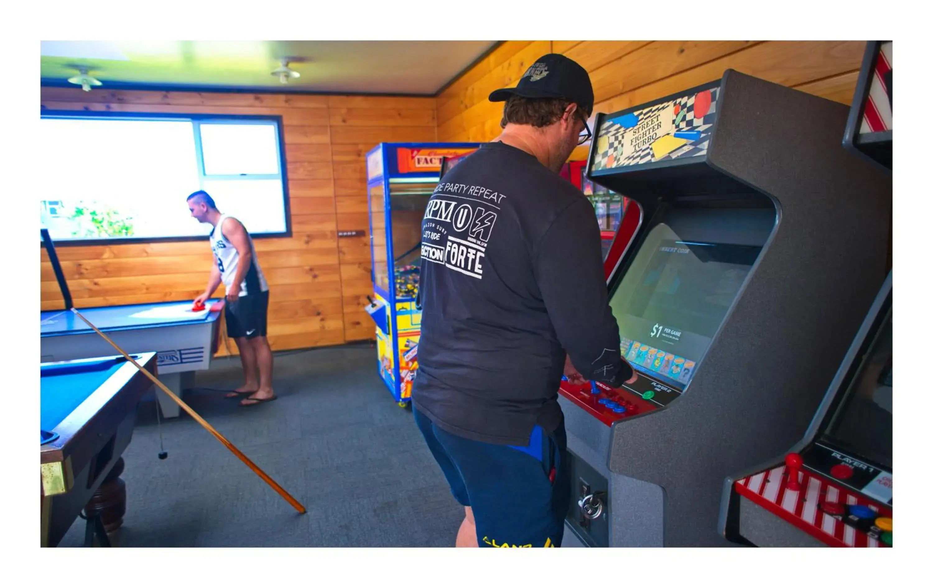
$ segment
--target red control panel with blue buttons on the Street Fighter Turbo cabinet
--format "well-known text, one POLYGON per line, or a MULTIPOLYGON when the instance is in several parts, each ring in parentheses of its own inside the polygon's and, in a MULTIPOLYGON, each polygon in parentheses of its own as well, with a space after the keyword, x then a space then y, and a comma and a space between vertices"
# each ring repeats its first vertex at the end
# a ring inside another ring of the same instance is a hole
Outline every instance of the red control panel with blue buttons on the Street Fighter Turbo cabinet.
POLYGON ((565 398, 598 418, 606 426, 622 418, 644 415, 662 408, 680 395, 681 390, 660 380, 635 371, 638 379, 633 384, 612 388, 602 382, 587 381, 574 384, 564 376, 561 393, 565 398))

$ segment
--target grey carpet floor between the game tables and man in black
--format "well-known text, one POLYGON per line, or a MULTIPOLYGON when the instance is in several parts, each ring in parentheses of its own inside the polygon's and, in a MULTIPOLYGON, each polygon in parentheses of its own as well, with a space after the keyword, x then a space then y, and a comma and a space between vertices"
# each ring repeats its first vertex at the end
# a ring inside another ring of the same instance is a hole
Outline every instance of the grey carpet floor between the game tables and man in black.
MULTIPOLYGON (((213 362, 184 400, 307 508, 299 514, 182 411, 140 404, 123 454, 120 547, 447 547, 463 508, 377 373, 369 344, 276 354, 279 399, 240 408, 239 359, 213 362)), ((61 542, 80 546, 84 521, 61 542)))

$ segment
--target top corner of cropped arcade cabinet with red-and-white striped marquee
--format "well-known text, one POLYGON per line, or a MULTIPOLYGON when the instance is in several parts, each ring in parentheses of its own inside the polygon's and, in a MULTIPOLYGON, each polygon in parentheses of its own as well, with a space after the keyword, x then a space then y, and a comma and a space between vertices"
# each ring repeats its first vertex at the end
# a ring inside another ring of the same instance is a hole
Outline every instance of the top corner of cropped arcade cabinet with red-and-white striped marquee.
POLYGON ((842 144, 868 157, 885 170, 892 170, 891 128, 894 69, 891 41, 869 41, 858 74, 856 94, 845 126, 842 144))

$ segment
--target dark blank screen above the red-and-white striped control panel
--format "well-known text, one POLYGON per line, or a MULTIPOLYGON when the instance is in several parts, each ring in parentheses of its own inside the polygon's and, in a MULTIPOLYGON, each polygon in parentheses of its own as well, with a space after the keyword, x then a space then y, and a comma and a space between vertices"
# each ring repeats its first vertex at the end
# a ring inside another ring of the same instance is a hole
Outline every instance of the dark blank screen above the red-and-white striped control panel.
POLYGON ((829 423, 826 437, 832 444, 891 471, 894 410, 890 309, 864 358, 829 423))

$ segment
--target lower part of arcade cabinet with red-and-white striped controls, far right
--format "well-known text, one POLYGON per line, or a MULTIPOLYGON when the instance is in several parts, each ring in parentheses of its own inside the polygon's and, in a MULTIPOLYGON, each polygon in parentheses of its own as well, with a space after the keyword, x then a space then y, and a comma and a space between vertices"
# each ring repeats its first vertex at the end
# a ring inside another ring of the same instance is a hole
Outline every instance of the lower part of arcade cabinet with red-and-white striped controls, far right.
POLYGON ((892 312, 887 280, 803 440, 726 479, 719 529, 759 547, 893 543, 892 312))

